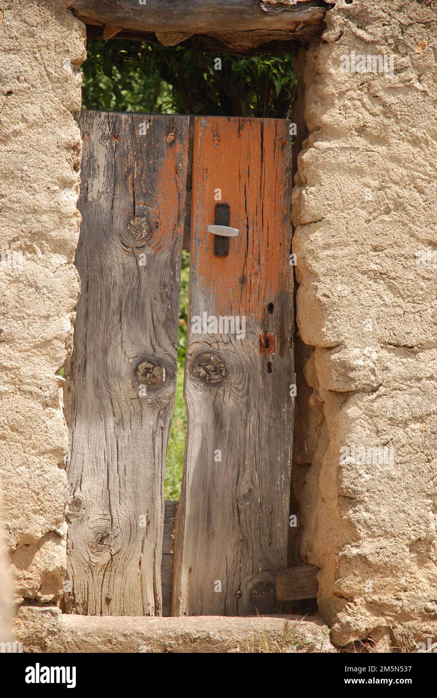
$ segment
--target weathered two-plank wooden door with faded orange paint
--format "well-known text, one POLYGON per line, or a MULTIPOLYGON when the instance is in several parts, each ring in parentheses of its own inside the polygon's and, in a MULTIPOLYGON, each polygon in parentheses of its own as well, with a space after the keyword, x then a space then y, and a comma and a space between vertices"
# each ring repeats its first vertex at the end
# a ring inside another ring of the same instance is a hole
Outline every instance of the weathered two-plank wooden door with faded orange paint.
POLYGON ((162 612, 163 477, 192 189, 172 610, 279 611, 295 382, 288 121, 195 117, 192 167, 188 117, 84 112, 80 125, 68 610, 162 612), (223 211, 239 230, 228 242, 208 232, 223 211))

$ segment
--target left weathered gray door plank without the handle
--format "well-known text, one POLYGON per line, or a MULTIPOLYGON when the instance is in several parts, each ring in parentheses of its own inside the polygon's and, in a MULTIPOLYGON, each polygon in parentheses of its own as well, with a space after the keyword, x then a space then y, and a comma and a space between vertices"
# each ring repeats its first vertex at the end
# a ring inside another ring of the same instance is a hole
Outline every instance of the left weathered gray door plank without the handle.
POLYGON ((160 615, 188 118, 83 112, 80 127, 68 611, 160 615))

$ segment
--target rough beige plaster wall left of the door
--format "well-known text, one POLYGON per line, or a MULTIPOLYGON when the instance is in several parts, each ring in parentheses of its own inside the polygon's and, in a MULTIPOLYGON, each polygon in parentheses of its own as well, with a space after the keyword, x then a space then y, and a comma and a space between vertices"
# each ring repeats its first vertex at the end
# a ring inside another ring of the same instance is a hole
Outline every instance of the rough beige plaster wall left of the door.
POLYGON ((71 112, 84 60, 84 27, 66 4, 0 0, 0 482, 19 601, 57 601, 66 566, 68 432, 55 372, 79 290, 71 112))

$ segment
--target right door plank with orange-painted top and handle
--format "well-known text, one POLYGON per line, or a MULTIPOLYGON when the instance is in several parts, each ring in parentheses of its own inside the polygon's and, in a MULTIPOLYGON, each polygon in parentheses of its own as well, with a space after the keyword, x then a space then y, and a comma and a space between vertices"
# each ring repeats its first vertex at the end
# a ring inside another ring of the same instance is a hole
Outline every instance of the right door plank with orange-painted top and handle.
POLYGON ((291 188, 288 121, 195 119, 174 615, 281 610, 275 581, 287 567, 294 405, 291 188), (207 232, 218 188, 240 231, 223 258, 207 232), (199 330, 204 313, 236 325, 245 318, 245 332, 224 322, 199 330))

